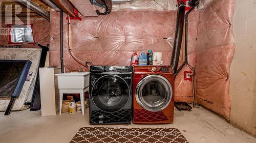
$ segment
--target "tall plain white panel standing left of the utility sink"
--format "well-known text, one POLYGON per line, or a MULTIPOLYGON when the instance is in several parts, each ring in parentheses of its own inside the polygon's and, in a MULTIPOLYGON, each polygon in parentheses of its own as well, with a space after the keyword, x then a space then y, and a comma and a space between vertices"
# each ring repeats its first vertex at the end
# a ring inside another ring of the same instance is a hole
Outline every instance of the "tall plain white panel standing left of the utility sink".
POLYGON ((39 68, 41 116, 56 116, 59 110, 58 80, 60 68, 39 68))

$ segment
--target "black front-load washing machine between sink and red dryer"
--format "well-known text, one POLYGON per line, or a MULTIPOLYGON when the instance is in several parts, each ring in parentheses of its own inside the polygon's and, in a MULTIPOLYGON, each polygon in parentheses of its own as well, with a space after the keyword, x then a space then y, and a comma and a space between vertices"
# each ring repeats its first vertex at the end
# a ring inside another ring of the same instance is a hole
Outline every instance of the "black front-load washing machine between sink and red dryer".
POLYGON ((90 124, 132 122, 131 66, 90 66, 90 124))

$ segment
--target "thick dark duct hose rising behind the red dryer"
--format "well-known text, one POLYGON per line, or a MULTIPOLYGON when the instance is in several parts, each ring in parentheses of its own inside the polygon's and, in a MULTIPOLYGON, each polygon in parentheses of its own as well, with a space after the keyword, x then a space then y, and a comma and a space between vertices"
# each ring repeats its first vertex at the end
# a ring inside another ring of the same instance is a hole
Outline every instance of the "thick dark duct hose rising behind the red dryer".
POLYGON ((182 42, 182 35, 183 35, 183 25, 184 25, 184 17, 185 17, 185 5, 183 2, 180 3, 178 11, 177 11, 177 20, 176 20, 176 31, 175 31, 175 38, 174 38, 174 48, 172 54, 172 61, 170 65, 173 66, 174 73, 176 74, 179 57, 180 57, 180 49, 181 49, 181 42, 182 42))

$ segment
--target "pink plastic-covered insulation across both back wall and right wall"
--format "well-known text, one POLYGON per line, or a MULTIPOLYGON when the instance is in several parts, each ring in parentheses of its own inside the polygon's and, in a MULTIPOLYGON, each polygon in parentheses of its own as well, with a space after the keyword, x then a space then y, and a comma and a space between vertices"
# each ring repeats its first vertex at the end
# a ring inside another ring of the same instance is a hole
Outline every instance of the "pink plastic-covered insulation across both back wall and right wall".
MULTIPOLYGON (((94 65, 128 66, 134 50, 140 53, 152 49, 153 52, 162 52, 163 64, 169 65, 177 11, 168 7, 158 9, 146 1, 137 3, 147 3, 148 7, 113 7, 114 11, 109 15, 71 21, 71 47, 77 58, 94 65)), ((197 65, 198 103, 228 120, 231 107, 229 67, 235 48, 233 11, 234 0, 214 0, 188 17, 188 62, 193 67, 197 65)), ((50 19, 50 37, 54 37, 50 40, 50 66, 59 67, 59 14, 51 12, 50 19)), ((64 65, 70 71, 77 71, 79 65, 68 51, 67 26, 67 21, 64 21, 64 65)), ((181 49, 179 65, 183 62, 183 52, 181 49)), ((190 70, 184 67, 176 77, 175 101, 191 102, 191 82, 183 80, 184 71, 190 70)))

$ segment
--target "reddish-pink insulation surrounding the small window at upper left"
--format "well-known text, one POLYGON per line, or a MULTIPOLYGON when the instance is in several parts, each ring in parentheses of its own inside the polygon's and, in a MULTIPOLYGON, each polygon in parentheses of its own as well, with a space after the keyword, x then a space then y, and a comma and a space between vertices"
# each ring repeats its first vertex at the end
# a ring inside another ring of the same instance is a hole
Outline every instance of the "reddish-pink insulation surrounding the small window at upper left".
MULTIPOLYGON (((8 25, 4 20, 1 21, 1 29, 7 30, 8 25)), ((11 23, 14 23, 16 25, 18 24, 24 24, 22 21, 13 21, 11 23)), ((31 19, 28 24, 32 24, 32 31, 33 31, 33 38, 36 44, 41 44, 43 46, 46 46, 49 44, 49 34, 50 34, 50 22, 45 19, 31 19)), ((8 44, 9 43, 9 36, 8 33, 1 33, 0 35, 0 45, 22 45, 22 47, 37 47, 37 45, 33 44, 8 44)))

